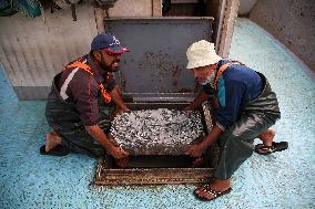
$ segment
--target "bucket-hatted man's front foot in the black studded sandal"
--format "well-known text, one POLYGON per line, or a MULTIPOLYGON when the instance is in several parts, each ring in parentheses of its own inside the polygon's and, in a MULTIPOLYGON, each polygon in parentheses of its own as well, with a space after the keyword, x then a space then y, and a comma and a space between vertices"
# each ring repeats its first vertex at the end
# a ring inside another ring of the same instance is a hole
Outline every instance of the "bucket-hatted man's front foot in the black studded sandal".
MULTIPOLYGON (((224 192, 231 188, 231 179, 225 180, 214 180, 209 185, 210 189, 215 190, 217 192, 224 192)), ((195 194, 202 198, 206 198, 209 200, 214 199, 215 197, 210 192, 204 191, 204 187, 200 187, 195 190, 195 194)))

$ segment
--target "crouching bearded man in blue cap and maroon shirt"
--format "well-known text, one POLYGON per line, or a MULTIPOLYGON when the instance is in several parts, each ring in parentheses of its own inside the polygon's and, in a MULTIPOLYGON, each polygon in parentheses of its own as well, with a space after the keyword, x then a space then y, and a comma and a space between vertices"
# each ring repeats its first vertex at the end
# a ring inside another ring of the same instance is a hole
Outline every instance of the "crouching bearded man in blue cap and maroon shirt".
POLYGON ((110 116, 104 107, 114 102, 122 111, 129 111, 112 75, 119 70, 124 52, 128 50, 115 36, 98 34, 89 54, 69 63, 54 76, 45 107, 52 130, 40 148, 42 155, 63 156, 73 151, 98 157, 106 151, 115 159, 128 156, 108 134, 110 116))

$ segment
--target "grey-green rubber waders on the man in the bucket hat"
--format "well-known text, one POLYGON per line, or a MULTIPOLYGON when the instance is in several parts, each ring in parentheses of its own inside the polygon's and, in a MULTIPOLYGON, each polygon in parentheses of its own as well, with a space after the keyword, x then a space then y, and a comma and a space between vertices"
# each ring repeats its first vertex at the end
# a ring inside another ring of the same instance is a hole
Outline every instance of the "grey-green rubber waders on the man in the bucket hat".
POLYGON ((217 139, 220 156, 213 174, 215 179, 231 178, 252 156, 254 138, 281 117, 275 93, 272 92, 264 75, 258 74, 264 82, 262 94, 246 105, 236 123, 217 139))

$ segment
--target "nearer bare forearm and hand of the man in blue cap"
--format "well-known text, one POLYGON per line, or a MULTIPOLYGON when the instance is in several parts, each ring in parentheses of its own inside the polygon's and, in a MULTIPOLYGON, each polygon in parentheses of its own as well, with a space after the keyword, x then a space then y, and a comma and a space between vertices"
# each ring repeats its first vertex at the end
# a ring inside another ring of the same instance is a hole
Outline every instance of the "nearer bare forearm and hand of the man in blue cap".
POLYGON ((122 159, 128 156, 128 153, 121 147, 114 146, 108 138, 106 134, 100 128, 99 125, 85 126, 88 133, 95 138, 106 151, 115 159, 122 159))

